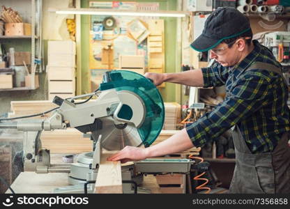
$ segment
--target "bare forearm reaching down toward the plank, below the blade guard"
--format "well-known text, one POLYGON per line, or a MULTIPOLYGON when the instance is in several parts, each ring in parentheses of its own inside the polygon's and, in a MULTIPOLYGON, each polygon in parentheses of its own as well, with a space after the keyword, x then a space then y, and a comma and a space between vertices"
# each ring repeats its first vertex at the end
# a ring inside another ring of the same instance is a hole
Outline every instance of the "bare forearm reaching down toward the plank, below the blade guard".
POLYGON ((146 155, 147 157, 159 157, 162 155, 179 153, 192 148, 192 146, 192 141, 190 140, 190 137, 188 137, 188 132, 186 132, 184 128, 165 141, 162 141, 155 146, 146 148, 146 155))

